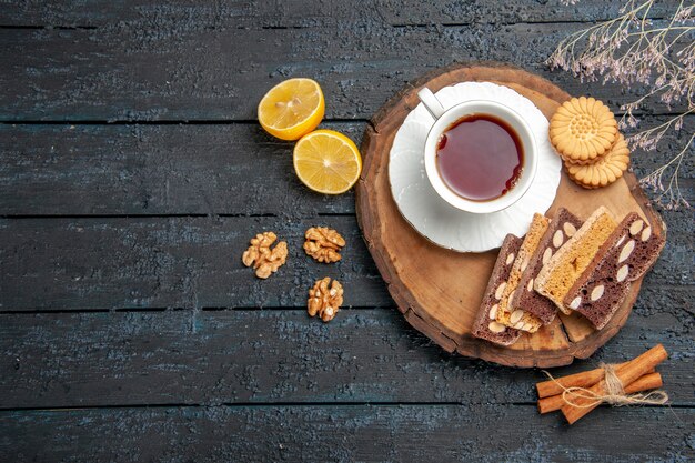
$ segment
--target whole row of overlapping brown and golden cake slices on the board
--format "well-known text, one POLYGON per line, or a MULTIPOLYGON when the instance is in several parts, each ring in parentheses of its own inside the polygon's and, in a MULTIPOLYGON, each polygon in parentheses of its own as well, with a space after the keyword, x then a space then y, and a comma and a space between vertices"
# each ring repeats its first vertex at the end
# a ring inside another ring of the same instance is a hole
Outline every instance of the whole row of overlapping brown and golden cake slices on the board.
POLYGON ((621 221, 603 207, 586 221, 565 209, 553 220, 535 214, 523 240, 504 240, 472 333, 510 345, 551 323, 558 310, 601 330, 664 244, 634 212, 621 221))

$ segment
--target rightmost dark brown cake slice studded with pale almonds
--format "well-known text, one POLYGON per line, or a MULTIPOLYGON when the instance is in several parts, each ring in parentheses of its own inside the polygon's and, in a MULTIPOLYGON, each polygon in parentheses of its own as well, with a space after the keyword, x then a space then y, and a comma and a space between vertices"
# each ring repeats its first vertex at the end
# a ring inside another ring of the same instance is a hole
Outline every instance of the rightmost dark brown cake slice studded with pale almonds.
POLYGON ((601 246, 586 271, 563 299, 601 330, 617 311, 631 283, 656 262, 666 240, 631 212, 601 246))

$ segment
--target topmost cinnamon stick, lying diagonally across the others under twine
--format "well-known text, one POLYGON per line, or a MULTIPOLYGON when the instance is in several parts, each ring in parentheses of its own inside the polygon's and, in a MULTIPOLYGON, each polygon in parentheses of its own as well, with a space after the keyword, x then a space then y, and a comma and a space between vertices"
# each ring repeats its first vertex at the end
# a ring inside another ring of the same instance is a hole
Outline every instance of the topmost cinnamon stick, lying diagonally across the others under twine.
MULTIPOLYGON (((662 344, 657 344, 656 346, 649 349, 638 358, 631 360, 626 365, 616 369, 616 376, 623 384, 633 383, 639 376, 644 375, 649 370, 654 369, 661 362, 666 360, 668 353, 664 349, 662 344)), ((606 387, 605 381, 602 380, 596 383, 594 386, 588 389, 588 394, 596 394, 597 396, 605 395, 606 387)), ((564 404, 562 406, 562 414, 565 415, 565 419, 570 424, 575 423, 582 416, 586 415, 588 412, 598 406, 598 403, 592 399, 583 399, 583 397, 574 397, 573 402, 578 405, 570 405, 564 404)))

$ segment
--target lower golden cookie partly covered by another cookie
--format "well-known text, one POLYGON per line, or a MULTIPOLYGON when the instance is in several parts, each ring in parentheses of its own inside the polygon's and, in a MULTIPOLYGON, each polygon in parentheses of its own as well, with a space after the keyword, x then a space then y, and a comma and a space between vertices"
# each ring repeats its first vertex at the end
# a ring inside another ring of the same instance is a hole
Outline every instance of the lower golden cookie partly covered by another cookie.
POLYGON ((618 133, 615 145, 593 164, 576 165, 565 162, 567 174, 578 185, 587 189, 606 187, 621 177, 629 165, 629 149, 625 138, 618 133))

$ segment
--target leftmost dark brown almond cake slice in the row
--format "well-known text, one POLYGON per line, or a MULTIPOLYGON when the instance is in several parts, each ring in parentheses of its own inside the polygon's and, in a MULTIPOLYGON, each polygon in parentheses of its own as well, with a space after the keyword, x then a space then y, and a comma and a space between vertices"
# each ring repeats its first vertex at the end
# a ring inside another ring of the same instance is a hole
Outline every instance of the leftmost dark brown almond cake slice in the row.
POLYGON ((521 243, 521 238, 516 238, 513 234, 507 234, 502 243, 497 261, 483 294, 483 302, 473 322, 472 334, 475 338, 484 339, 495 344, 510 345, 521 336, 517 330, 507 328, 495 320, 500 299, 502 298, 500 285, 504 284, 510 276, 512 263, 516 258, 521 243))

